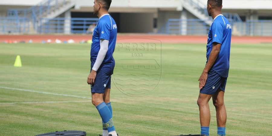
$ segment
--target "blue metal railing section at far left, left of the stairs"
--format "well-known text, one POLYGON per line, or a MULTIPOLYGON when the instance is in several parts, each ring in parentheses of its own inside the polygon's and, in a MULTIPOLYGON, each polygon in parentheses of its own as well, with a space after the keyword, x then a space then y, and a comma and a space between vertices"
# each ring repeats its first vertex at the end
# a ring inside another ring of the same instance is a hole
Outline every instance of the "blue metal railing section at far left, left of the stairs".
POLYGON ((29 31, 28 18, 0 17, 0 32, 27 33, 29 31))

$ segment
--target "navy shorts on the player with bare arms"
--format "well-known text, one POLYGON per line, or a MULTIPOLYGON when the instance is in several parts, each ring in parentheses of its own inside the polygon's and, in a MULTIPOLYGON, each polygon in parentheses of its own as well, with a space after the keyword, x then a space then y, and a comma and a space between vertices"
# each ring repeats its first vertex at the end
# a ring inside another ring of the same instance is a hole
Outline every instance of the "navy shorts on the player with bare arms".
POLYGON ((220 88, 225 92, 225 87, 227 83, 227 77, 222 77, 214 70, 208 72, 208 78, 205 86, 200 89, 200 93, 213 95, 220 88))

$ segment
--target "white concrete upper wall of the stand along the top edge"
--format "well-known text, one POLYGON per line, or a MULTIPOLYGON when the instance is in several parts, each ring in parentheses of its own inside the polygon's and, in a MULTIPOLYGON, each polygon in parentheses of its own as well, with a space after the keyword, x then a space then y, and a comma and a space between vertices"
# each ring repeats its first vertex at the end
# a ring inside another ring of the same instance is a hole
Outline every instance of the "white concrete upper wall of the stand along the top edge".
MULTIPOLYGON (((42 0, 0 0, 0 5, 36 5, 42 0)), ((94 0, 72 0, 76 8, 92 7, 94 0)), ((193 0, 207 4, 207 0, 193 0)), ((119 8, 174 8, 182 10, 183 0, 114 0, 112 7, 119 8)), ((223 0, 224 9, 272 9, 272 0, 223 0)))

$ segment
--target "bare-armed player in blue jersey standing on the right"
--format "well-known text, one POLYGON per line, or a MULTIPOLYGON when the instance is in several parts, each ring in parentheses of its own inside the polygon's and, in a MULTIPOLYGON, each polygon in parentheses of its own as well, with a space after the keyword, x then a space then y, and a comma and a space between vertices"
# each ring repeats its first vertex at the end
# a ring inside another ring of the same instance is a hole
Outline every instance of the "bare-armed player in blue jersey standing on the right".
POLYGON ((201 134, 209 135, 210 109, 212 98, 216 110, 217 134, 225 136, 227 113, 224 104, 225 86, 229 71, 229 56, 232 26, 222 15, 222 0, 208 0, 207 11, 213 23, 208 34, 207 62, 199 78, 199 116, 201 134))

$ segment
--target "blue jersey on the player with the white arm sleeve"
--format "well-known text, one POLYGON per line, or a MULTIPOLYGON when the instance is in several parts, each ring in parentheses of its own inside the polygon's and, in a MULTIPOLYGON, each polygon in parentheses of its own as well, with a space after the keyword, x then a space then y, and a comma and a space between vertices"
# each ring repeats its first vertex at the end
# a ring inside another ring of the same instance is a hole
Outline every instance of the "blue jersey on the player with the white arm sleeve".
POLYGON ((114 19, 109 15, 105 14, 99 18, 98 24, 92 33, 92 47, 91 47, 91 69, 96 62, 98 52, 100 50, 100 40, 109 40, 108 52, 100 65, 99 70, 105 72, 107 75, 113 74, 115 61, 112 54, 115 49, 117 37, 117 25, 114 19))

